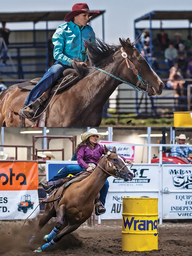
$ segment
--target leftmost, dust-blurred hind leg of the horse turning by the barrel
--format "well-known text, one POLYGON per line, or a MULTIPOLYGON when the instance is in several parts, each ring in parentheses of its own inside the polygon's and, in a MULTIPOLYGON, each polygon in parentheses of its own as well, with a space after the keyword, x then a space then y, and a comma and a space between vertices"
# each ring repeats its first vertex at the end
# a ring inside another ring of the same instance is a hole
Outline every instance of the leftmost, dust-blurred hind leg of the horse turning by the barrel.
POLYGON ((36 234, 38 234, 41 229, 45 226, 45 224, 55 215, 55 208, 52 207, 52 204, 46 204, 45 211, 43 213, 43 216, 39 220, 39 224, 37 229, 35 230, 35 234, 32 236, 32 238, 29 240, 29 242, 32 242, 35 238, 36 234))

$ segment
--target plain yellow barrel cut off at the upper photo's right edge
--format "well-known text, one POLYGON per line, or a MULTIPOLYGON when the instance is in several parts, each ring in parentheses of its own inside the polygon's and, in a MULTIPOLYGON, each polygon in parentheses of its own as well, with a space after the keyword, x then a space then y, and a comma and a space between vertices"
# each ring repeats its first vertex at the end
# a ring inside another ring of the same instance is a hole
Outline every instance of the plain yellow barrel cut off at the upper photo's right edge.
POLYGON ((173 112, 174 127, 191 127, 192 112, 173 112))

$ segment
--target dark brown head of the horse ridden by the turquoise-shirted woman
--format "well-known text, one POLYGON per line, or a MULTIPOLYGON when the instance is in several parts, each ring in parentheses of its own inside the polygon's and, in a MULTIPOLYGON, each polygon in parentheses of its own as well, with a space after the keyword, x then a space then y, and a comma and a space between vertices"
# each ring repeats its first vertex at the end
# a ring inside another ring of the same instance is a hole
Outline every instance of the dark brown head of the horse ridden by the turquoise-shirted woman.
POLYGON ((123 47, 122 50, 120 50, 120 53, 122 54, 122 52, 124 52, 124 56, 122 56, 128 63, 124 65, 123 68, 123 74, 125 74, 124 80, 129 80, 134 85, 137 85, 143 90, 147 91, 149 96, 155 94, 160 95, 165 86, 159 76, 153 71, 147 61, 140 54, 140 52, 134 48, 134 45, 137 44, 137 42, 131 43, 129 38, 127 38, 126 41, 119 38, 119 41, 123 47), (133 71, 131 77, 130 72, 129 74, 126 72, 126 69, 128 68, 132 69, 133 71), (137 74, 142 78, 143 82, 141 81, 138 83, 139 77, 137 74))

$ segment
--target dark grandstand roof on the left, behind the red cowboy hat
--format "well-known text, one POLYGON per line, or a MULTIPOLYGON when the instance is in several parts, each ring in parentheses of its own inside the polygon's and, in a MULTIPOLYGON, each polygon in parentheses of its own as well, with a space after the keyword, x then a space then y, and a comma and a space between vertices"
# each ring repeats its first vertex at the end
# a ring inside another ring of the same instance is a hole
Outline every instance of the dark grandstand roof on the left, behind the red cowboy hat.
MULTIPOLYGON (((61 12, 2 12, 0 13, 0 22, 27 22, 34 23, 38 21, 61 21, 70 11, 61 12)), ((105 11, 95 14, 91 19, 103 14, 105 11)))

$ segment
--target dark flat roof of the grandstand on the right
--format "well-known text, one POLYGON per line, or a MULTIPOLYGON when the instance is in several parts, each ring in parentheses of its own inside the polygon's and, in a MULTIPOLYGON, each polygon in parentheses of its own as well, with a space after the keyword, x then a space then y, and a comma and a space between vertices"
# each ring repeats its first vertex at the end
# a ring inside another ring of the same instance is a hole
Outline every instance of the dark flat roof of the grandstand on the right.
POLYGON ((135 22, 141 20, 149 20, 151 15, 152 20, 180 20, 180 19, 188 19, 192 22, 192 10, 191 11, 153 11, 147 13, 140 18, 135 19, 135 22))

